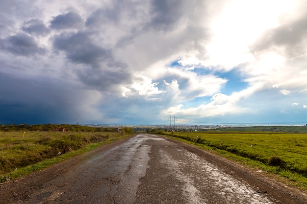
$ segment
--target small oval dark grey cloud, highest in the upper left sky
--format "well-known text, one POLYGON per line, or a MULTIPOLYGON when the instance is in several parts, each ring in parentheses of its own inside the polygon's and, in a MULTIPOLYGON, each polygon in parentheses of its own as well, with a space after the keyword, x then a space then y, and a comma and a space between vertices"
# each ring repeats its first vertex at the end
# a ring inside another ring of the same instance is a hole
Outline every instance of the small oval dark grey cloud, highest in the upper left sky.
POLYGON ((50 23, 50 27, 56 30, 81 28, 83 26, 81 16, 75 12, 58 15, 50 23))

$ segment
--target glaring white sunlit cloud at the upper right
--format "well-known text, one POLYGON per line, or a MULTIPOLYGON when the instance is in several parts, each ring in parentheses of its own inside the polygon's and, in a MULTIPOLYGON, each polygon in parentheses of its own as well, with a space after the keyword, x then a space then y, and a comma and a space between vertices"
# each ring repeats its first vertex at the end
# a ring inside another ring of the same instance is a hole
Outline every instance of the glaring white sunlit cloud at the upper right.
MULTIPOLYGON (((290 17, 293 14, 292 9, 297 5, 298 1, 285 0, 223 2, 219 5, 220 9, 215 11, 217 15, 212 15, 213 18, 210 19, 213 37, 210 43, 205 45, 207 59, 197 60, 192 57, 195 56, 194 54, 182 63, 203 64, 204 66, 219 65, 219 68, 230 70, 239 64, 253 61, 254 56, 250 53, 249 45, 262 34, 263 30, 278 26, 282 15, 290 17), (279 5, 279 9, 276 9, 276 4, 279 5), (259 10, 261 10, 261 15, 259 15, 259 10)), ((265 62, 271 64, 274 61, 269 57, 265 62)))

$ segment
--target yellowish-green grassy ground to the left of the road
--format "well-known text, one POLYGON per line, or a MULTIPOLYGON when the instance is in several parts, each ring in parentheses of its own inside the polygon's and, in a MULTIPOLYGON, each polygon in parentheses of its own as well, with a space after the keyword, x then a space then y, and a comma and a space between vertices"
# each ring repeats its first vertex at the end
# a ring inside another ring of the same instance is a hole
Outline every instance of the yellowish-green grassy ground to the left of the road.
POLYGON ((133 135, 117 132, 23 133, 0 132, 0 183, 133 135))

